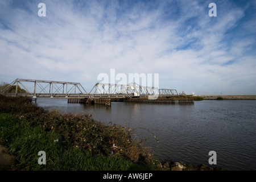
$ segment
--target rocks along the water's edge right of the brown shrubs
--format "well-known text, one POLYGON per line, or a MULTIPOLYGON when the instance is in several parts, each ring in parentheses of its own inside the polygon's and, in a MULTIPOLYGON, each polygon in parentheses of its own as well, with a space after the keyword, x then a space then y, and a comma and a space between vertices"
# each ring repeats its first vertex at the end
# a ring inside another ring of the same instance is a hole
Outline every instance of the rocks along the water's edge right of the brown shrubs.
POLYGON ((184 164, 183 162, 175 162, 173 160, 164 160, 160 167, 163 171, 225 171, 221 167, 210 167, 207 164, 184 164))

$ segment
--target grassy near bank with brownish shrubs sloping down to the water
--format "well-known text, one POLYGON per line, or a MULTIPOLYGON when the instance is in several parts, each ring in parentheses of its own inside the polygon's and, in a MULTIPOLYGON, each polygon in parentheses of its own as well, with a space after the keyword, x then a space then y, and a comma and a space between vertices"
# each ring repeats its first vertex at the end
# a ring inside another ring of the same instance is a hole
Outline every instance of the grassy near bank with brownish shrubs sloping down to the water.
POLYGON ((11 170, 154 170, 158 160, 132 130, 88 114, 61 114, 30 98, 0 95, 0 139, 16 163, 11 170), (46 165, 38 164, 39 151, 46 165))

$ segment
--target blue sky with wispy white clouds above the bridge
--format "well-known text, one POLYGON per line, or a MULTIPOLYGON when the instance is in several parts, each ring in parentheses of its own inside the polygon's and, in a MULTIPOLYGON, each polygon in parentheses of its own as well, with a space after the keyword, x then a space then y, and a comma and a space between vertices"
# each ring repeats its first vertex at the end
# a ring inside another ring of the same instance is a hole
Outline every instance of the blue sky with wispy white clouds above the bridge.
POLYGON ((90 90, 115 69, 158 73, 159 88, 187 94, 256 94, 255 12, 252 0, 0 0, 0 81, 81 82, 90 90), (216 17, 208 15, 212 2, 216 17))

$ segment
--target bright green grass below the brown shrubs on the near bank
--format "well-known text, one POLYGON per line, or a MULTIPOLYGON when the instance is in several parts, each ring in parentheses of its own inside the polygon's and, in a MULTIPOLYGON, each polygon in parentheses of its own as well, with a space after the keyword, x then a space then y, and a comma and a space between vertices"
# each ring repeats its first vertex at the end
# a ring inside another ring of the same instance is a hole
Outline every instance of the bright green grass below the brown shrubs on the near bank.
POLYGON ((69 146, 55 130, 48 133, 31 127, 11 114, 0 114, 0 138, 5 139, 15 170, 146 170, 150 169, 118 156, 93 155, 92 151, 69 146), (59 142, 55 143, 54 140, 59 142), (39 151, 46 152, 46 165, 39 165, 39 151))

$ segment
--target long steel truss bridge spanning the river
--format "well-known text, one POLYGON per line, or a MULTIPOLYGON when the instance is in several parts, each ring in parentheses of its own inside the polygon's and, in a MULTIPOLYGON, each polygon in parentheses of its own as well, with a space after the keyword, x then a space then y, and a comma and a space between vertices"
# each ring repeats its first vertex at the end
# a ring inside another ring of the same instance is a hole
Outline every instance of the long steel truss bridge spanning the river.
POLYGON ((30 80, 17 78, 1 92, 6 96, 27 96, 32 98, 86 98, 86 97, 158 97, 179 96, 175 89, 159 89, 157 87, 141 86, 136 83, 129 85, 97 83, 90 92, 79 82, 30 80), (19 86, 20 85, 20 86, 19 86), (14 89, 15 93, 10 93, 14 89), (20 92, 20 89, 26 92, 20 92), (31 91, 33 90, 33 91, 31 91))

